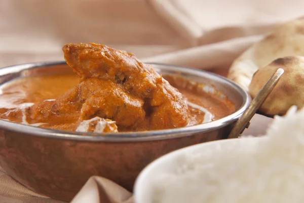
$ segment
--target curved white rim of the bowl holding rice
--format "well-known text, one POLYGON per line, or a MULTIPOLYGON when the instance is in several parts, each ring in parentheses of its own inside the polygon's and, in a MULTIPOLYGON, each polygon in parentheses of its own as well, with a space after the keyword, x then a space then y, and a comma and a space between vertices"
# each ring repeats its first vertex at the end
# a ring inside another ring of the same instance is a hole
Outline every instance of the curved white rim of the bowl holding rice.
MULTIPOLYGON (((200 143, 196 145, 191 145, 188 147, 184 147, 181 149, 174 150, 168 154, 165 154, 158 159, 150 162, 148 165, 146 165, 143 170, 139 173, 137 176, 133 191, 134 191, 134 202, 135 203, 142 203, 142 202, 151 202, 147 200, 144 190, 144 186, 147 185, 148 182, 146 182, 147 177, 155 171, 158 171, 160 166, 168 165, 168 163, 171 163, 170 160, 176 160, 178 157, 184 155, 188 152, 194 152, 194 151, 203 151, 208 150, 210 147, 221 149, 222 145, 226 144, 234 144, 234 145, 248 145, 248 144, 258 144, 259 142, 263 142, 267 140, 268 137, 244 137, 244 138, 236 138, 236 139, 225 139, 225 140, 215 140, 205 143, 200 143), (143 201, 144 199, 144 201, 143 201)), ((166 168, 166 167, 165 167, 166 168)), ((155 178, 155 177, 154 177, 155 178)))

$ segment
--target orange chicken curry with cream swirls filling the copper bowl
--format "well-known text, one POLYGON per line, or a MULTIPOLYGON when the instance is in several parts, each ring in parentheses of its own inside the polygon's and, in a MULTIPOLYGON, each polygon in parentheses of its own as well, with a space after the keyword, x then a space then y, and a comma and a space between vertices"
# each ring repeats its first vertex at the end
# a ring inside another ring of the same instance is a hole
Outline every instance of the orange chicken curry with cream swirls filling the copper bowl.
POLYGON ((118 132, 197 125, 235 111, 199 83, 162 76, 132 53, 66 44, 75 74, 35 76, 1 87, 0 118, 52 129, 118 132))

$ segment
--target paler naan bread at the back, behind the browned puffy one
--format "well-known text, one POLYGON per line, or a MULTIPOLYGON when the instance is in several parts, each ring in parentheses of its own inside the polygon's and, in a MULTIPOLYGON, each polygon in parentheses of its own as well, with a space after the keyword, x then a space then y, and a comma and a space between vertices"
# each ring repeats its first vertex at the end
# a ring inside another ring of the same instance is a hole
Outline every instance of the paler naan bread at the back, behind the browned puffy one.
POLYGON ((296 55, 304 56, 304 18, 274 28, 234 61, 227 77, 248 91, 251 78, 260 67, 277 58, 296 55))

